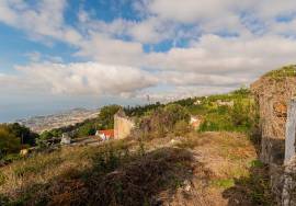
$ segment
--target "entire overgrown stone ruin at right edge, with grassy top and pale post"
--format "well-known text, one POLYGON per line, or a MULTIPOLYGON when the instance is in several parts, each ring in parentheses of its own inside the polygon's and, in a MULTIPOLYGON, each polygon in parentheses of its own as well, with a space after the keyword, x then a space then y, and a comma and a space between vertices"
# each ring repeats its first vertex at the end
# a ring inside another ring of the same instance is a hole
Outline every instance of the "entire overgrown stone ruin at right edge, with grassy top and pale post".
POLYGON ((278 205, 296 205, 296 66, 272 71, 251 85, 259 104, 260 159, 270 167, 278 205))

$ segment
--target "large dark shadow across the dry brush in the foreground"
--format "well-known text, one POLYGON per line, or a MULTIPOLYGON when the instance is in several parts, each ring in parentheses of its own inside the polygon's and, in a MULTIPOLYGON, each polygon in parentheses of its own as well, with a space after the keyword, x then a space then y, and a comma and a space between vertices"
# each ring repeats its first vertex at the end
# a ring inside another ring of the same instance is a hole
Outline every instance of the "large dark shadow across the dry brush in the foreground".
MULTIPOLYGON (((191 182, 193 154, 161 148, 140 154, 98 153, 87 171, 71 170, 46 184, 22 191, 23 205, 161 205, 159 194, 173 196, 191 182)), ((21 203, 20 202, 20 203, 21 203)))

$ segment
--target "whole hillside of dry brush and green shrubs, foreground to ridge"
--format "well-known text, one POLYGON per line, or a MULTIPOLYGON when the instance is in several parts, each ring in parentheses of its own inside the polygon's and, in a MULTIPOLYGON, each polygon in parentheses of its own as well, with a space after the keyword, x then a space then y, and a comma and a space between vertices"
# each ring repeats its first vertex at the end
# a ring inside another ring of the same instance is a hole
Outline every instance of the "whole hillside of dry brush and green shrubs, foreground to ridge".
MULTIPOLYGON (((112 128, 117 110, 106 106, 96 119, 46 138, 112 128)), ((258 114, 248 89, 124 110, 137 125, 127 139, 48 145, 0 168, 0 205, 273 204, 267 168, 257 158, 258 114), (197 130, 191 115, 202 119, 197 130)))

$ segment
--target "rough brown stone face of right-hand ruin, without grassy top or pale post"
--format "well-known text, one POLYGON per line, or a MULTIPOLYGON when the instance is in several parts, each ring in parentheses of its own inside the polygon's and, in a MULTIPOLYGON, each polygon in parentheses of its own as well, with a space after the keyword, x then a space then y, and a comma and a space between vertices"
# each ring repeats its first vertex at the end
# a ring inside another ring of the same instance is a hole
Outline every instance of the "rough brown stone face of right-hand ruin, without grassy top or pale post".
MULTIPOLYGON (((260 110, 262 139, 260 159, 270 167, 271 187, 278 205, 283 204, 285 181, 285 140, 287 107, 293 96, 296 95, 296 77, 274 78, 264 76, 251 85, 260 110)), ((287 123, 291 124, 292 122, 287 123)), ((289 139, 288 141, 291 141, 289 139)), ((287 142, 289 145, 289 142, 287 142)), ((292 150, 288 150, 288 153, 292 150)), ((287 156, 291 156, 288 154, 287 156)), ((289 168, 291 170, 291 168, 289 168)))

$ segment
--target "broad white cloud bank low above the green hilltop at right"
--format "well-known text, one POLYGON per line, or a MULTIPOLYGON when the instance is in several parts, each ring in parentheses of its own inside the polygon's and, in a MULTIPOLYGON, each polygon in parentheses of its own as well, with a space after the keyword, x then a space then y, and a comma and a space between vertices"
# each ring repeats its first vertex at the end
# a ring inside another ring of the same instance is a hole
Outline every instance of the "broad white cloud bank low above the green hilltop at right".
POLYGON ((295 62, 296 41, 280 36, 223 38, 204 35, 190 48, 150 54, 149 65, 167 70, 251 77, 295 62))

